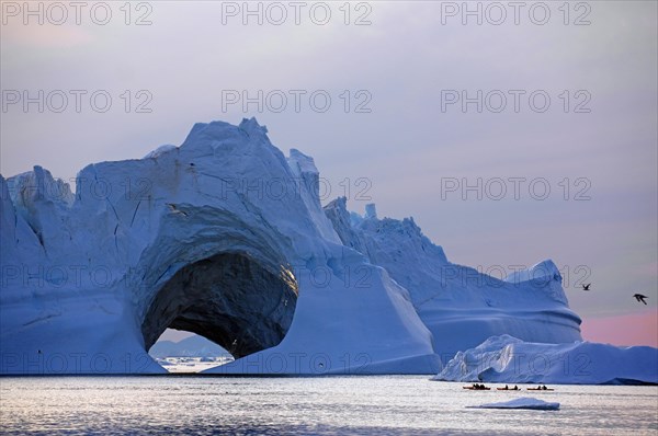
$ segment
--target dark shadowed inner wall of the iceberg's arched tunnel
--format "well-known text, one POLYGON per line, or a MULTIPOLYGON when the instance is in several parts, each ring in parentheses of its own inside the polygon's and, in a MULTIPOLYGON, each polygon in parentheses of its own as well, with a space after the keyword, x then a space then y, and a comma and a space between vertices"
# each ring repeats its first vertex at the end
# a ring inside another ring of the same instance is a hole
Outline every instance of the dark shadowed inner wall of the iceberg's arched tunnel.
POLYGON ((246 253, 219 253, 182 267, 157 291, 141 323, 145 347, 172 328, 243 357, 281 343, 296 302, 287 269, 272 272, 246 253))

